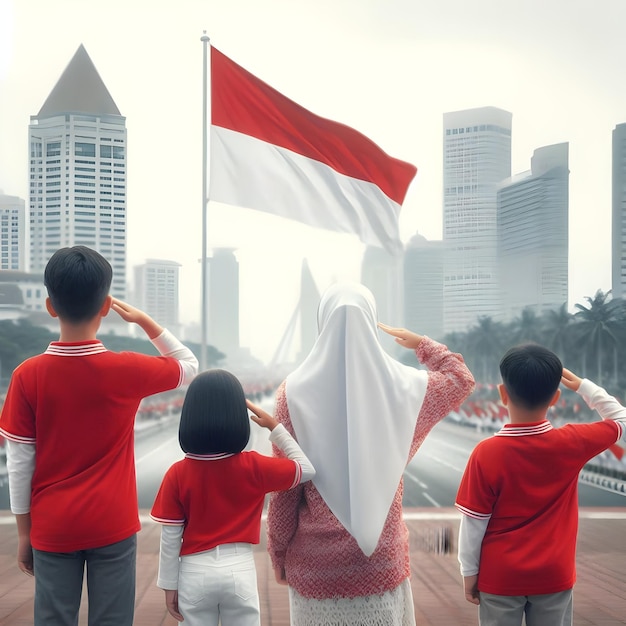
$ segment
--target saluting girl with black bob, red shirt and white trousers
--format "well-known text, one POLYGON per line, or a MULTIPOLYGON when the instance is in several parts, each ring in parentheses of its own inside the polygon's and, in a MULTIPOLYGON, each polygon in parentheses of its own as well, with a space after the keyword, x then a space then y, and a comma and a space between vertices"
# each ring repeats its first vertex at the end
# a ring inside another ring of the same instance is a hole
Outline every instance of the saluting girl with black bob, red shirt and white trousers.
POLYGON ((265 496, 311 480, 315 470, 285 427, 246 400, 225 370, 191 382, 178 439, 185 457, 166 472, 151 512, 162 524, 157 586, 185 626, 259 626, 253 545, 265 496), (250 419, 270 430, 286 458, 244 451, 250 419))

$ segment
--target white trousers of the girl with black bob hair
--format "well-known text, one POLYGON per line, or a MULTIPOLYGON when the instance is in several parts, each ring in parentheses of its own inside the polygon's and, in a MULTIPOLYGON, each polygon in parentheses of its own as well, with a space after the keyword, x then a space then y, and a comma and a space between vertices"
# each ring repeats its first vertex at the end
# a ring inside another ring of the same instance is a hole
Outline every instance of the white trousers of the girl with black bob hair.
POLYGON ((184 626, 260 626, 252 545, 227 543, 181 557, 178 609, 184 626))

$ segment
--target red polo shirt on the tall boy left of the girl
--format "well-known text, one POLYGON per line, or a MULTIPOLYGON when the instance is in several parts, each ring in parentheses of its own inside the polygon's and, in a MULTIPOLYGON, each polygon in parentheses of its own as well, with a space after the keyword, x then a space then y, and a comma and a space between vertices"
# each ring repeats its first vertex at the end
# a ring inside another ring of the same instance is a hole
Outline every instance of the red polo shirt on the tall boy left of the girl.
POLYGON ((0 433, 36 447, 34 548, 72 552, 139 530, 135 414, 142 398, 181 380, 176 359, 110 352, 97 340, 53 342, 15 369, 0 433))

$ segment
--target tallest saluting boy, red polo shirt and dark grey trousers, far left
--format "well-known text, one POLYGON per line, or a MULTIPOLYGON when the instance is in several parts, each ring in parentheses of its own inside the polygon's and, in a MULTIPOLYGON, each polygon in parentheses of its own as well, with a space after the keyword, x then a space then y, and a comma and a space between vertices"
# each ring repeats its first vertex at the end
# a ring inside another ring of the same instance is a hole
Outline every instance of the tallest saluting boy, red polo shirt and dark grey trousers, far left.
POLYGON ((46 307, 59 341, 19 365, 0 415, 18 566, 35 575, 35 626, 75 626, 87 567, 89 624, 131 626, 140 529, 134 421, 145 396, 189 383, 198 361, 146 313, 109 295, 112 269, 84 246, 48 261, 46 307), (108 351, 113 309, 162 356, 108 351))

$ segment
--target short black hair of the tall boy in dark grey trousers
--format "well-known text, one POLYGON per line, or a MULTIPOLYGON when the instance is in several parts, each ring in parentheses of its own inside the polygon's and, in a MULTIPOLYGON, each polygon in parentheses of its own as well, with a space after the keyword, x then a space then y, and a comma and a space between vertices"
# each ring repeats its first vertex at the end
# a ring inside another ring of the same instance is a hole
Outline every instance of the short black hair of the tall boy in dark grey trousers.
POLYGON ((93 319, 111 288, 111 264, 86 246, 57 250, 46 264, 43 282, 57 315, 74 323, 93 319))

